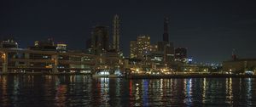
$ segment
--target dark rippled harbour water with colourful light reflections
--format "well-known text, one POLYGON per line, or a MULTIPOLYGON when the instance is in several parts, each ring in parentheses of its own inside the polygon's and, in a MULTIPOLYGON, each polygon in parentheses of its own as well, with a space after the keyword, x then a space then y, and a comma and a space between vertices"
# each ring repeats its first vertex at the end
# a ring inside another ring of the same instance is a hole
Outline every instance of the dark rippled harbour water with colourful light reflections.
POLYGON ((256 106, 251 78, 0 76, 0 106, 256 106))

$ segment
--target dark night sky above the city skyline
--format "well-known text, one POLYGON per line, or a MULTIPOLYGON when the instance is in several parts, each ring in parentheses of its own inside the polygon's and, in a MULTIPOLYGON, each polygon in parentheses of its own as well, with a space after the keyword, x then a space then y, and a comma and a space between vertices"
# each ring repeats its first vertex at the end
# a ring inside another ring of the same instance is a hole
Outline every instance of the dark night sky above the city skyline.
POLYGON ((256 58, 256 2, 253 0, 1 0, 0 36, 12 35, 20 48, 53 37, 69 48, 84 49, 94 25, 111 28, 114 14, 121 18, 121 48, 149 34, 161 41, 164 17, 176 48, 188 48, 197 62, 256 58))

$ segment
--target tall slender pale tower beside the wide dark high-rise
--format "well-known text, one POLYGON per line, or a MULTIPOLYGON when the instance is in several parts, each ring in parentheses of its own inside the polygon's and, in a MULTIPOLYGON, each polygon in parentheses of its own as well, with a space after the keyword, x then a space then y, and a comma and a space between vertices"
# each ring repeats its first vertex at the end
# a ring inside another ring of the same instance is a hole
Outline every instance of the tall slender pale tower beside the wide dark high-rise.
POLYGON ((113 49, 119 51, 119 15, 113 17, 113 49))

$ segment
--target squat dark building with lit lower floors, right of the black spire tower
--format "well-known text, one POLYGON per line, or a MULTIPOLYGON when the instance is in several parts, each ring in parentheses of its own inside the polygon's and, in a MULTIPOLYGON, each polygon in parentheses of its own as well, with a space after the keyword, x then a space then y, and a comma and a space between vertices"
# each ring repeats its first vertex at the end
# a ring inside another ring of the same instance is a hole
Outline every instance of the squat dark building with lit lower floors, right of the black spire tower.
POLYGON ((183 64, 188 63, 187 48, 176 48, 175 49, 175 61, 183 64))

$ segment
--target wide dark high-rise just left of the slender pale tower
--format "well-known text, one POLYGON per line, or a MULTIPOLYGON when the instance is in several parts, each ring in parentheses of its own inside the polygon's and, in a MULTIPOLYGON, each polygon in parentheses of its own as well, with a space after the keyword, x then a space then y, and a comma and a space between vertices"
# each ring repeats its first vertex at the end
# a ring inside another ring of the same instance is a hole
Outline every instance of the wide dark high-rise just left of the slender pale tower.
POLYGON ((101 54, 109 49, 108 26, 97 25, 91 32, 92 53, 101 54))

